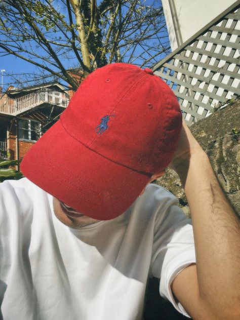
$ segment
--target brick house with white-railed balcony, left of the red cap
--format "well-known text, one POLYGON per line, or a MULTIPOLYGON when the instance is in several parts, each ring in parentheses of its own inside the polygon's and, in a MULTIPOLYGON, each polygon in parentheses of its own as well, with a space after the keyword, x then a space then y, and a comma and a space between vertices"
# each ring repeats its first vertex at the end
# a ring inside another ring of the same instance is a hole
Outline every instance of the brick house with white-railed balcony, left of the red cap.
POLYGON ((57 82, 24 89, 9 87, 0 95, 0 156, 21 160, 68 102, 68 91, 57 82))

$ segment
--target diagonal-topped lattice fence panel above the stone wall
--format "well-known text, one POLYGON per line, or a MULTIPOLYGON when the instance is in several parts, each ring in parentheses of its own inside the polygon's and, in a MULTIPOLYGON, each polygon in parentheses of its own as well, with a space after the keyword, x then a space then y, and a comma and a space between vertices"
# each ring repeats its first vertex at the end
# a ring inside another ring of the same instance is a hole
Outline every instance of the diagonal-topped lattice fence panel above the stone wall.
POLYGON ((239 20, 239 5, 232 5, 153 67, 174 91, 188 125, 240 94, 239 20))

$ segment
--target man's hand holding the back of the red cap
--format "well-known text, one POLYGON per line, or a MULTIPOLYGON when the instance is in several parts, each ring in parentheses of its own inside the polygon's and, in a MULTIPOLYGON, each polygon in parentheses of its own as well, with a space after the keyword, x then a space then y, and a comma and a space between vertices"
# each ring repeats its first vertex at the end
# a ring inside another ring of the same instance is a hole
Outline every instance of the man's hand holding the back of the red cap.
POLYGON ((169 168, 176 172, 183 166, 187 166, 191 155, 197 152, 204 152, 188 129, 184 119, 182 120, 182 130, 178 141, 178 147, 173 155, 169 168))

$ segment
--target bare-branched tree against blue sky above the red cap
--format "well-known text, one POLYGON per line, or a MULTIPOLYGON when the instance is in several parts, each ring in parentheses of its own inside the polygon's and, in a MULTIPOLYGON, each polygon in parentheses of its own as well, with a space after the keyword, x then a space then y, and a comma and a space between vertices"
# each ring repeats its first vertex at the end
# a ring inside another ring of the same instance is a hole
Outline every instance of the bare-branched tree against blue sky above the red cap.
MULTIPOLYGON (((33 82, 76 77, 112 62, 150 67, 170 50, 161 2, 0 0, 0 56, 36 66, 33 82)), ((16 78, 15 78, 16 80, 16 78)))

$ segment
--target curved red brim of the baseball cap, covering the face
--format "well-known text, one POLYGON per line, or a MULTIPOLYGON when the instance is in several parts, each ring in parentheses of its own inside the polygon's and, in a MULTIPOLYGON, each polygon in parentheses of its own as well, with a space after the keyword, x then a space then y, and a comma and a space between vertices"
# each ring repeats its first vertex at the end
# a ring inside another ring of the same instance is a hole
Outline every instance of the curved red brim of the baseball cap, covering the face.
POLYGON ((98 220, 123 214, 150 179, 78 142, 61 120, 32 146, 20 170, 66 205, 98 220))

